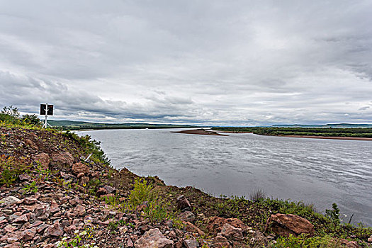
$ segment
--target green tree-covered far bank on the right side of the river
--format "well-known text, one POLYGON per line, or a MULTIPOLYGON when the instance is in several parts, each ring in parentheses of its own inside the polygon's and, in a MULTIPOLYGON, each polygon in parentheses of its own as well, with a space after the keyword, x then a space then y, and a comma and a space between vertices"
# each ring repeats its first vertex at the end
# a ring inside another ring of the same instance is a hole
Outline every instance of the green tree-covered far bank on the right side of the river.
POLYGON ((306 135, 325 137, 372 137, 372 128, 234 128, 223 127, 213 130, 232 133, 250 132, 257 135, 306 135))

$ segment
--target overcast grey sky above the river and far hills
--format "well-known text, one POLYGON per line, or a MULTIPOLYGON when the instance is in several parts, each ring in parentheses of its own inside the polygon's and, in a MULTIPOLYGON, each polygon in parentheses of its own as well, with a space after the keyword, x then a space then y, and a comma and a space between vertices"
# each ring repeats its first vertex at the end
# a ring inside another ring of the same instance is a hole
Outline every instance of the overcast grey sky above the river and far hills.
POLYGON ((371 23, 371 0, 0 0, 0 106, 111 123, 372 123, 371 23))

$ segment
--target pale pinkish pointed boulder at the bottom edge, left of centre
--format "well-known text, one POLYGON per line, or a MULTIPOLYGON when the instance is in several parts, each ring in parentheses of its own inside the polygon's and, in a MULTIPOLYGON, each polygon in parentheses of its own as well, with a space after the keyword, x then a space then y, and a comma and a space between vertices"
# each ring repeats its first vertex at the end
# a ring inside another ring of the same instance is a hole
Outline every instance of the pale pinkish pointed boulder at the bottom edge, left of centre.
POLYGON ((135 242, 135 248, 173 248, 173 241, 162 235, 159 229, 151 229, 145 232, 135 242))

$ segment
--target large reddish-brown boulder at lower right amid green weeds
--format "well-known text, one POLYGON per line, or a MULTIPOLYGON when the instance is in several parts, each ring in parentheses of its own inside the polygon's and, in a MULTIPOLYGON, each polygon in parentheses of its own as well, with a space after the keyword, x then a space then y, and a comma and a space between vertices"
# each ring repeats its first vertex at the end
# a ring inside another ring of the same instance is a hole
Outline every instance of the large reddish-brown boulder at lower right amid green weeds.
POLYGON ((289 237, 289 235, 298 236, 303 233, 311 237, 314 235, 314 225, 298 215, 277 213, 276 215, 271 215, 267 220, 266 231, 286 237, 289 237))

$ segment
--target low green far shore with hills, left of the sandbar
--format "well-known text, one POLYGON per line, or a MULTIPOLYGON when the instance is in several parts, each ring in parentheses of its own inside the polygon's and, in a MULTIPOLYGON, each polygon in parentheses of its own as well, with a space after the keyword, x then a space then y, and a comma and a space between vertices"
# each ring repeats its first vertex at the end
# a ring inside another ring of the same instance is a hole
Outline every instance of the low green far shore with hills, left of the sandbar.
POLYGON ((193 125, 170 125, 149 123, 89 123, 73 120, 48 120, 50 125, 63 130, 81 129, 139 129, 139 128, 195 128, 193 125))

